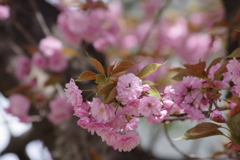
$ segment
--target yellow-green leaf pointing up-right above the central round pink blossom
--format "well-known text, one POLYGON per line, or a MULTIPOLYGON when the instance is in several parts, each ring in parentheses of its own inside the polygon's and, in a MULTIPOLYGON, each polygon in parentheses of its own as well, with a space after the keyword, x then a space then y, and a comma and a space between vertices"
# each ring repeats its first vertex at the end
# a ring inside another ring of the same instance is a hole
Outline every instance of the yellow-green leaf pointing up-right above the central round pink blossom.
POLYGON ((140 72, 138 72, 136 76, 143 79, 148 75, 150 75, 151 73, 155 72, 162 65, 163 64, 159 64, 159 63, 151 63, 145 66, 140 72))

